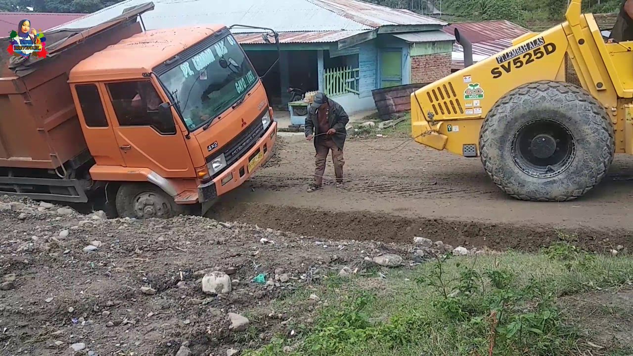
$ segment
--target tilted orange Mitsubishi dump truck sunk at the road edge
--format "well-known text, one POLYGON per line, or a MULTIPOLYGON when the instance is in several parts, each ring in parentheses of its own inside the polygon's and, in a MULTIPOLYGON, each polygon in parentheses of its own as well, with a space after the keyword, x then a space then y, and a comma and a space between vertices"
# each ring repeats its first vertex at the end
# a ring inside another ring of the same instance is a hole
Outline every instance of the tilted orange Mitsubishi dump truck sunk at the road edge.
POLYGON ((153 7, 54 30, 46 58, 11 60, 0 79, 0 195, 170 217, 204 212, 270 158, 272 108, 229 28, 144 31, 137 20, 153 7))

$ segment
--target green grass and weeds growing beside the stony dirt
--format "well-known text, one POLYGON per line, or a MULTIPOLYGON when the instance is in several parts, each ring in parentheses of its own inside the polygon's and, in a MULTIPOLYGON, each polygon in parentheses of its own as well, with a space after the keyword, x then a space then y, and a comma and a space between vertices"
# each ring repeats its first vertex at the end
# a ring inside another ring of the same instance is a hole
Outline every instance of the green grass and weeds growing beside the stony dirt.
MULTIPOLYGON (((298 338, 275 338, 246 354, 589 355, 558 297, 630 288, 633 258, 560 243, 538 255, 447 257, 382 272, 386 278, 333 276, 279 302, 296 307, 311 293, 321 300, 312 325, 294 326, 298 338)), ((618 352, 614 346, 591 354, 618 352)))

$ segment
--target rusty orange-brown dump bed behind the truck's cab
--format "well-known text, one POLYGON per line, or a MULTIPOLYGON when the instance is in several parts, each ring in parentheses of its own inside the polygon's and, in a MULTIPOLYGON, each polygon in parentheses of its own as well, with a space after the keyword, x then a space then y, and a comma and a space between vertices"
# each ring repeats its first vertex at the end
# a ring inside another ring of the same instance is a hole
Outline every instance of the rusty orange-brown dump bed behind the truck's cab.
MULTIPOLYGON (((8 63, 0 78, 0 167, 49 168, 89 158, 73 103, 68 73, 80 61, 141 32, 137 16, 153 3, 90 29, 54 30, 46 35, 47 57, 8 63)), ((9 39, 0 40, 7 48, 9 39)))

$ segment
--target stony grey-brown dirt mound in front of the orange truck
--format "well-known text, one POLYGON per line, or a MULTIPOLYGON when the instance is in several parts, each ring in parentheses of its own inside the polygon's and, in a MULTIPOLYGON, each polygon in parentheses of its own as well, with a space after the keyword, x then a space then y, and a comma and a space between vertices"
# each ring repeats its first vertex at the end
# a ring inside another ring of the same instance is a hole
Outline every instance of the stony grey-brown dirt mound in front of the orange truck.
POLYGON ((368 255, 412 258, 411 246, 305 235, 318 239, 204 217, 106 220, 0 198, 3 354, 71 355, 71 345, 90 355, 256 347, 284 332, 275 298, 368 255), (230 294, 203 293, 210 271, 230 276, 230 294), (266 284, 252 281, 258 274, 266 284), (251 319, 246 336, 230 330, 230 312, 251 319))

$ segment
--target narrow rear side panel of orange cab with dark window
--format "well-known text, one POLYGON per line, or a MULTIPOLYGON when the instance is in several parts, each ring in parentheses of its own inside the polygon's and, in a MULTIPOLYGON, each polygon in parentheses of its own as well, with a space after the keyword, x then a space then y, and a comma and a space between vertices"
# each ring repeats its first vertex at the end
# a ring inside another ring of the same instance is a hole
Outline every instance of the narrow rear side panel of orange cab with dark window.
MULTIPOLYGON (((78 103, 77 114, 82 122, 85 143, 97 165, 125 166, 118 148, 112 122, 108 120, 97 84, 77 84, 73 94, 78 103)), ((103 88, 102 92, 103 92, 103 88)), ((107 96, 107 95, 106 95, 107 96)))

